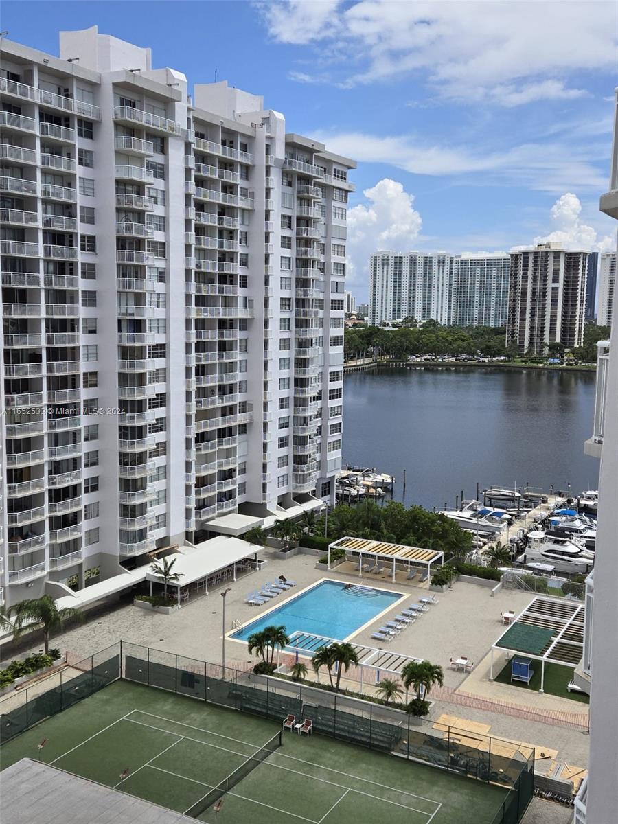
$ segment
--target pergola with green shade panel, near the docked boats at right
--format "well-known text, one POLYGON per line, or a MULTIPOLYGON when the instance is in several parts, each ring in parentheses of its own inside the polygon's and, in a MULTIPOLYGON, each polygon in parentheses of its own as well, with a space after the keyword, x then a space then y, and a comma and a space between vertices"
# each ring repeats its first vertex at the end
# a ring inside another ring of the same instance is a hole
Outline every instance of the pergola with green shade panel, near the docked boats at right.
POLYGON ((494 680, 494 649, 504 649, 541 661, 543 692, 545 662, 575 669, 581 661, 585 611, 578 602, 535 598, 492 645, 489 680, 494 680))

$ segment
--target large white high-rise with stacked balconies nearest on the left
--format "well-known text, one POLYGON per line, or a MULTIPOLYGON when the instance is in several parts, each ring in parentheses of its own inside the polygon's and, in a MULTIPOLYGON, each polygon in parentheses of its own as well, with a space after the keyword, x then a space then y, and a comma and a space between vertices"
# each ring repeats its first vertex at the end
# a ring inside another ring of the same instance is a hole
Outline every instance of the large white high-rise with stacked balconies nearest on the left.
POLYGON ((355 164, 96 27, 2 51, 2 600, 332 499, 355 164))

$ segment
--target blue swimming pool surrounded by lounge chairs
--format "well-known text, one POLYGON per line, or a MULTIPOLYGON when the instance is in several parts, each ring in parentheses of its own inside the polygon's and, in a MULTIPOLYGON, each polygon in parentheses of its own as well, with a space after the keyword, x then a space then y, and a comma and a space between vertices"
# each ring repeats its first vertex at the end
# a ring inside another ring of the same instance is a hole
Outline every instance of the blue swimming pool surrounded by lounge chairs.
POLYGON ((339 581, 321 581, 230 637, 246 641, 250 634, 266 626, 283 625, 288 635, 298 630, 343 641, 403 595, 369 587, 363 587, 362 592, 358 589, 339 581))

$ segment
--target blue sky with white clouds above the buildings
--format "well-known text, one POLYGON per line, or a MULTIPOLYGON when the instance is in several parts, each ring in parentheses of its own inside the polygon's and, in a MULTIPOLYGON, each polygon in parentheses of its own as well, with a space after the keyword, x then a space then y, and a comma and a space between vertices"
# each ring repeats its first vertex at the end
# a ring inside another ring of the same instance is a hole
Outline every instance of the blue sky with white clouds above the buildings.
POLYGON ((615 248, 598 213, 616 86, 614 2, 12 2, 9 38, 58 53, 99 26, 192 82, 263 94, 358 159, 350 286, 377 248, 615 248))

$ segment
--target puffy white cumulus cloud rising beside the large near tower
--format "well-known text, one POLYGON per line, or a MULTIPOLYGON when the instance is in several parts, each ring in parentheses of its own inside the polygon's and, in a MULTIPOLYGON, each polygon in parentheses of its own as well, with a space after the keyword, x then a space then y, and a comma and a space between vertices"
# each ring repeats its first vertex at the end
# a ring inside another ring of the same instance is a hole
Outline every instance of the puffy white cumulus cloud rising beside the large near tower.
POLYGON ((414 195, 388 177, 363 190, 366 203, 348 211, 349 286, 368 282, 369 256, 379 249, 409 250, 423 221, 414 209, 414 195))

